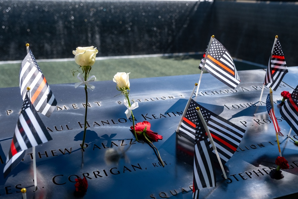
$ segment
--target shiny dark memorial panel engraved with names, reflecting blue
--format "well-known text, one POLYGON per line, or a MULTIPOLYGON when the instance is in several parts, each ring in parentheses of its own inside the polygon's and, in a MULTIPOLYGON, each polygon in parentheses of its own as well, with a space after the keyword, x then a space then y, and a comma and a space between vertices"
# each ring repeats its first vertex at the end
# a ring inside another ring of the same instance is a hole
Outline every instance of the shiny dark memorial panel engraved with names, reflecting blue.
MULTIPOLYGON (((281 131, 290 127, 280 117, 280 92, 292 92, 297 86, 298 68, 291 67, 281 87, 273 93, 276 117, 281 131), (281 120, 281 121, 280 121, 281 120)), ((279 155, 273 124, 266 106, 258 102, 264 70, 240 71, 235 90, 226 87, 210 74, 201 81, 198 103, 246 129, 238 151, 224 165, 228 180, 216 168, 217 186, 200 190, 200 198, 277 198, 297 193, 297 146, 280 137, 283 156, 290 169, 277 176, 274 169, 279 155)), ((20 198, 20 188, 27 188, 28 198, 74 198, 74 181, 86 176, 87 198, 191 198, 193 184, 193 144, 175 133, 181 112, 199 75, 132 79, 131 99, 139 102, 134 110, 137 122, 147 120, 151 129, 163 136, 154 142, 165 166, 147 144, 137 143, 124 114, 123 96, 112 81, 94 82, 89 93, 86 149, 82 151, 85 94, 74 84, 51 85, 58 101, 50 118, 41 115, 53 138, 36 147, 37 185, 33 187, 32 149, 7 178, 0 175, 2 198, 20 198), (88 145, 88 146, 87 146, 88 145), (64 154, 64 155, 63 155, 64 154), (177 193, 177 195, 176 195, 177 193), (176 195, 176 196, 173 196, 176 195)), ((265 102, 268 89, 264 90, 265 102)), ((0 89, 0 155, 5 163, 11 138, 21 109, 19 88, 0 89)), ((291 137, 298 136, 291 132, 291 137)), ((0 162, 0 170, 4 168, 0 162)))

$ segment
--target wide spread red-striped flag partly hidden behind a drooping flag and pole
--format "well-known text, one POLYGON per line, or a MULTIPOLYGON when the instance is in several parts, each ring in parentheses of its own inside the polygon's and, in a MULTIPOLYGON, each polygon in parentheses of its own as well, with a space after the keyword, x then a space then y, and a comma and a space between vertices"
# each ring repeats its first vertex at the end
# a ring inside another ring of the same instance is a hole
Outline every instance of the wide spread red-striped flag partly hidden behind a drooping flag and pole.
MULTIPOLYGON (((245 130, 208 109, 205 109, 192 99, 183 118, 179 133, 193 142, 195 141, 195 121, 198 118, 196 107, 200 107, 213 141, 215 142, 219 157, 222 163, 225 164, 238 148, 245 130)), ((203 124, 201 125, 201 129, 204 129, 203 124)), ((211 144, 210 147, 212 147, 211 144)), ((213 151, 213 153, 215 153, 215 151, 213 151)))

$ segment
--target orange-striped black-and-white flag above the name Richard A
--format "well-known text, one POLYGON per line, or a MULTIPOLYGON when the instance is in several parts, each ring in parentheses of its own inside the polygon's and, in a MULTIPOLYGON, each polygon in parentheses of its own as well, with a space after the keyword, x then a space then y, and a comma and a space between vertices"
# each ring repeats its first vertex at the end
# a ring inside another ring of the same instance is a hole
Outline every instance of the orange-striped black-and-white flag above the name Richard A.
MULTIPOLYGON (((203 57, 206 57, 206 51, 203 57)), ((206 62, 204 58, 201 60, 199 66, 200 70, 203 69, 203 65, 205 63, 204 67, 211 75, 218 78, 231 88, 237 87, 240 83, 240 79, 235 68, 234 61, 223 44, 213 38, 206 62)))

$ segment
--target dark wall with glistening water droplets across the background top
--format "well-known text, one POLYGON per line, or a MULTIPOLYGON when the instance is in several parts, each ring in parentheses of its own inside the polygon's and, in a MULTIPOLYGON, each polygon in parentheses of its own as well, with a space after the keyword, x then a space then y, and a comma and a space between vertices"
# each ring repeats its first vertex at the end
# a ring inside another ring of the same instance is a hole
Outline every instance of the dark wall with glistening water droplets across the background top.
POLYGON ((202 52, 215 35, 233 57, 267 65, 278 35, 294 66, 297 13, 278 1, 0 0, 0 61, 23 59, 26 43, 39 59, 90 45, 99 56, 202 52))

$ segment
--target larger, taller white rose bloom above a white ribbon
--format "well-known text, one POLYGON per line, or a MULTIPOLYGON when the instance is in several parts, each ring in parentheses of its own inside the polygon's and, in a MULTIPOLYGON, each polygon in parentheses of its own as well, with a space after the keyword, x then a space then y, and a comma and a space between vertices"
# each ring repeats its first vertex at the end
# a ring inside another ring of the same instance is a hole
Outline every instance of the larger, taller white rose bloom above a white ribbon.
POLYGON ((76 50, 72 51, 72 54, 75 55, 75 63, 80 66, 92 66, 97 53, 98 50, 94 46, 77 47, 76 50))

